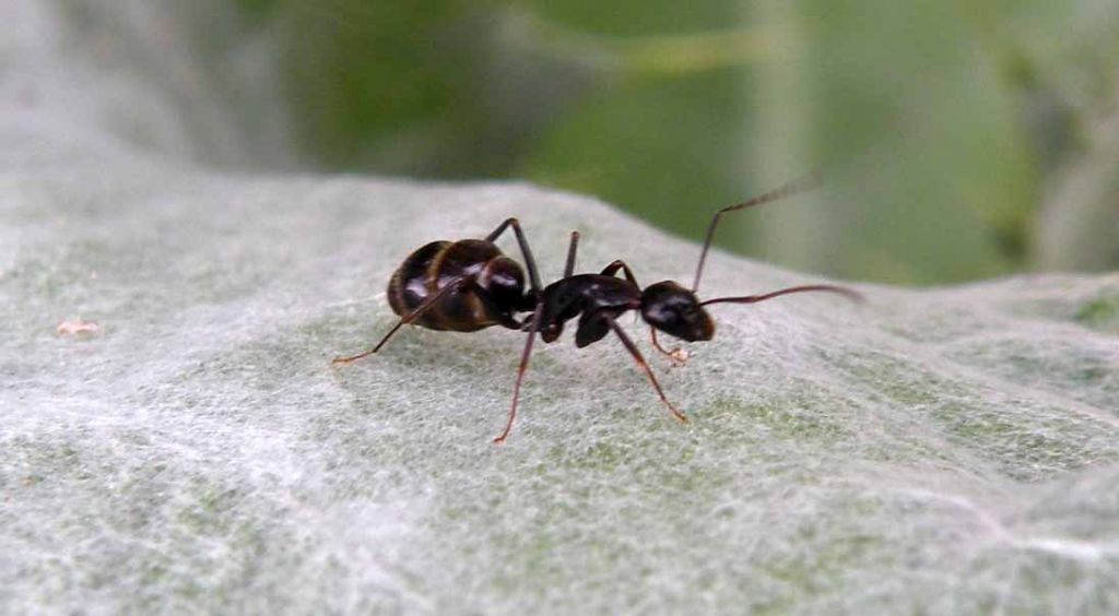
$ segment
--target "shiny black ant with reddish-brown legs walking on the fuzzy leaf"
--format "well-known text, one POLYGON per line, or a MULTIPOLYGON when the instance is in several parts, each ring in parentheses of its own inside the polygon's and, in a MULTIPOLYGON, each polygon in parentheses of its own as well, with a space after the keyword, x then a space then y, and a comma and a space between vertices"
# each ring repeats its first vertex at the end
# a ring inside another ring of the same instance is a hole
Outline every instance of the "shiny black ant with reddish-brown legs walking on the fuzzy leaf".
POLYGON ((473 332, 501 325, 527 332, 528 337, 520 354, 520 366, 513 389, 509 418, 505 429, 493 439, 493 443, 499 444, 509 436, 514 419, 517 417, 520 386, 528 370, 528 359, 537 334, 545 343, 555 342, 563 332, 564 324, 577 316, 575 347, 582 349, 613 332, 633 357, 638 368, 648 377, 657 396, 673 416, 681 423, 687 423, 687 416, 668 401, 645 356, 618 325, 618 318, 629 311, 639 311, 641 319, 650 326, 653 347, 668 356, 674 364, 678 364, 683 363, 686 356, 679 350, 666 351, 657 341, 657 331, 687 342, 711 340, 715 334, 715 322, 705 306, 723 303, 753 304, 790 293, 816 291, 838 293, 849 300, 861 301, 862 296, 857 292, 827 284, 792 286, 761 295, 715 297, 705 301, 696 296, 704 262, 707 259, 707 252, 722 215, 775 201, 819 184, 819 174, 812 173, 715 212, 707 227, 690 290, 674 281, 659 282, 642 290, 632 269, 620 259, 598 274, 575 274, 579 231, 571 234, 563 277, 542 287, 536 259, 533 258, 520 222, 516 218, 501 222, 485 239, 432 241, 408 255, 389 279, 388 303, 393 312, 401 316, 396 325, 373 349, 352 357, 336 358, 331 363, 333 366, 350 363, 376 353, 401 326, 406 324, 459 332, 473 332), (527 291, 520 265, 505 256, 493 244, 509 228, 513 228, 516 235, 528 269, 527 291), (619 272, 623 277, 618 277, 619 272), (516 313, 523 312, 532 312, 532 315, 518 320, 516 313))

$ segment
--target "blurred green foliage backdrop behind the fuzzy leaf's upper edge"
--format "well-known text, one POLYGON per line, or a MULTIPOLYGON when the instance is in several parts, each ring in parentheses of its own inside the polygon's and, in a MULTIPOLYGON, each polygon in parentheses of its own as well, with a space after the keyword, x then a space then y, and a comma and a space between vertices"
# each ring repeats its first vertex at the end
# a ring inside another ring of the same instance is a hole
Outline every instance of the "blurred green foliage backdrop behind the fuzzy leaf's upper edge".
MULTIPOLYGON (((301 162, 527 179, 698 239, 930 284, 1119 265, 1116 0, 234 0, 301 162)), ((624 238, 615 238, 624 241, 624 238)))

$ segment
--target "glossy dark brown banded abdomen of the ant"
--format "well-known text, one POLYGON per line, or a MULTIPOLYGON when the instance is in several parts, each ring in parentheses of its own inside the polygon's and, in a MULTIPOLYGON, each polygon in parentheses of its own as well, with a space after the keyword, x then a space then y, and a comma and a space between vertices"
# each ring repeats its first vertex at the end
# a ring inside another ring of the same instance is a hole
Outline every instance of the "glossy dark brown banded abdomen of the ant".
MULTIPOLYGON (((478 274, 499 256, 501 250, 482 239, 432 241, 396 268, 388 282, 388 303, 393 312, 405 316, 457 277, 478 274)), ((498 321, 474 288, 468 287, 451 292, 414 323, 431 330, 473 332, 497 325, 498 321)))

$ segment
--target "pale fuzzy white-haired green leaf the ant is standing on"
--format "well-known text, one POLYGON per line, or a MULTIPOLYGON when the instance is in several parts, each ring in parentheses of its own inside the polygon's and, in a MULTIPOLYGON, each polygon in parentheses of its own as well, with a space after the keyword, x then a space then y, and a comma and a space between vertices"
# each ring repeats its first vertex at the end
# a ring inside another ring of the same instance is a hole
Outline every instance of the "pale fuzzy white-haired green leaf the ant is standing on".
MULTIPOLYGON (((0 111, 0 612, 1119 609, 1116 275, 716 305, 675 369, 624 319, 688 425, 568 333, 495 446, 523 333, 330 367, 410 250, 518 216, 546 279, 577 229, 648 284, 698 247, 525 184, 159 158, 106 120, 143 87, 40 42, 0 49, 60 67, 0 111)), ((715 253, 700 294, 810 282, 715 253)))

